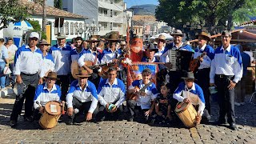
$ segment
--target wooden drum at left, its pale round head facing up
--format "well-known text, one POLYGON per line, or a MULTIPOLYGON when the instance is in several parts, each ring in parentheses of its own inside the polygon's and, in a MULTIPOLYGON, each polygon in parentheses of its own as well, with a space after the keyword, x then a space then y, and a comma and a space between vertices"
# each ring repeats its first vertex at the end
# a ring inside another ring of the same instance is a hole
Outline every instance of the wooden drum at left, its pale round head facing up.
POLYGON ((43 129, 51 129, 57 125, 58 119, 61 117, 61 115, 62 106, 60 102, 47 102, 42 117, 39 120, 39 125, 43 129))

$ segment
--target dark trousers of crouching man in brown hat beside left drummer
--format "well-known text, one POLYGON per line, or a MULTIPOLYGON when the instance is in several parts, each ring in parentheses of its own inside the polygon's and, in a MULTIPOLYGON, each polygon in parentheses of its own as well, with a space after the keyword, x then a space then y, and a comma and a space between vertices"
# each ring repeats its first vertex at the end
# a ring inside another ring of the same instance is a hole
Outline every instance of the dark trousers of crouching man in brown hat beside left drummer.
MULTIPOLYGON (((91 101, 90 102, 80 102, 77 98, 73 97, 72 105, 73 105, 73 109, 79 110, 78 114, 83 114, 83 113, 87 114, 88 110, 90 109, 91 101)), ((98 108, 96 108, 94 110, 93 115, 95 116, 97 113, 98 113, 98 108)), ((74 119, 75 116, 77 116, 78 114, 75 114, 73 112, 72 116, 69 116, 69 118, 74 119)))

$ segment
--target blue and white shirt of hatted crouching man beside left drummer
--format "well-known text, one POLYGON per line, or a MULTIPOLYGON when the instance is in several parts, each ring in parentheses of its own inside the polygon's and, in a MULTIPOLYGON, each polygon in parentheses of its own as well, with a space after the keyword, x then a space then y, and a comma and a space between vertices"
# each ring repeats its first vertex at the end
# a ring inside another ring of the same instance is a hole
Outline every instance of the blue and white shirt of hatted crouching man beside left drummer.
POLYGON ((77 98, 80 102, 92 101, 88 112, 94 113, 94 110, 96 109, 98 104, 98 95, 94 83, 87 80, 86 88, 82 90, 82 87, 79 86, 78 80, 75 80, 71 83, 70 90, 66 95, 66 103, 68 108, 73 107, 73 97, 77 98))

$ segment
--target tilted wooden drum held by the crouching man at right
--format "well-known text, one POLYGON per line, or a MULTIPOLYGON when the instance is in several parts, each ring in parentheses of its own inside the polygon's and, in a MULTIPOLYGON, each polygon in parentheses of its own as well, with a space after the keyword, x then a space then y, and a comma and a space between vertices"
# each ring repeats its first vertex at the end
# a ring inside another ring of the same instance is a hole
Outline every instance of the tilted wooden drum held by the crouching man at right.
POLYGON ((194 127, 196 126, 196 115, 198 114, 196 110, 194 110, 194 106, 189 102, 178 102, 175 113, 178 115, 178 118, 182 120, 186 127, 194 127))

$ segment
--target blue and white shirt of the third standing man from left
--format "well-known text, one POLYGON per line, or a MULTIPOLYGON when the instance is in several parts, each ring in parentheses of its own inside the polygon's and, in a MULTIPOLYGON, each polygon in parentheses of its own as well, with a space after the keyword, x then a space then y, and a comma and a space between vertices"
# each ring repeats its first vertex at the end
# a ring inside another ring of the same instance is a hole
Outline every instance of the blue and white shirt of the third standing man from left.
POLYGON ((65 45, 61 48, 58 45, 50 47, 50 54, 54 57, 55 68, 54 71, 58 75, 67 75, 70 74, 70 51, 72 50, 71 46, 65 45))

